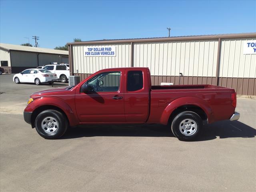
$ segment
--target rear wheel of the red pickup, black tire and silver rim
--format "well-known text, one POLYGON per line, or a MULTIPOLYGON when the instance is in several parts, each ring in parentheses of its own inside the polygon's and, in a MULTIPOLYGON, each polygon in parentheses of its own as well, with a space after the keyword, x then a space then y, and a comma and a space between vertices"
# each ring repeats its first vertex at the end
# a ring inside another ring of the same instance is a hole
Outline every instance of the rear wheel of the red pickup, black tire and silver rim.
POLYGON ((179 140, 192 141, 200 134, 202 126, 202 119, 198 114, 184 111, 173 119, 171 129, 179 140))

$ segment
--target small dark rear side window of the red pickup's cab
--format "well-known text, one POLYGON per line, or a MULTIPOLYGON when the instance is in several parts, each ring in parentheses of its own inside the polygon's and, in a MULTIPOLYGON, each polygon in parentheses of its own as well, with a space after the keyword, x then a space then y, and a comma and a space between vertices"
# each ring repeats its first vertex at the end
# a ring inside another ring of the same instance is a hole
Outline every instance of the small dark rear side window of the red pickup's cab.
POLYGON ((129 71, 127 75, 127 90, 137 91, 143 88, 142 71, 129 71))

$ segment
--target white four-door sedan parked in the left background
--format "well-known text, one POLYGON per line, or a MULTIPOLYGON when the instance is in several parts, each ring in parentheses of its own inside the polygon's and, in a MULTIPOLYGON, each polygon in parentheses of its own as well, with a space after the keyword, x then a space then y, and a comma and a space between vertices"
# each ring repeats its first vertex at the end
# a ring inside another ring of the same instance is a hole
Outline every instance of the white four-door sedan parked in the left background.
POLYGON ((41 83, 48 82, 52 84, 52 80, 57 80, 57 75, 46 69, 26 69, 13 76, 13 81, 15 83, 26 82, 35 83, 40 85, 41 83))

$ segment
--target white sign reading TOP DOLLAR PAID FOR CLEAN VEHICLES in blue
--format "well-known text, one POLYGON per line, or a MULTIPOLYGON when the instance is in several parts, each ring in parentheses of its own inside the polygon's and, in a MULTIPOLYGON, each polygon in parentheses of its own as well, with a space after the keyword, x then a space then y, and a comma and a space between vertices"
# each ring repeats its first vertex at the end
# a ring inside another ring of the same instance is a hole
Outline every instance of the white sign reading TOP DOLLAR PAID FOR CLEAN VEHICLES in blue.
POLYGON ((116 46, 96 46, 96 47, 85 47, 84 56, 116 56, 116 46))

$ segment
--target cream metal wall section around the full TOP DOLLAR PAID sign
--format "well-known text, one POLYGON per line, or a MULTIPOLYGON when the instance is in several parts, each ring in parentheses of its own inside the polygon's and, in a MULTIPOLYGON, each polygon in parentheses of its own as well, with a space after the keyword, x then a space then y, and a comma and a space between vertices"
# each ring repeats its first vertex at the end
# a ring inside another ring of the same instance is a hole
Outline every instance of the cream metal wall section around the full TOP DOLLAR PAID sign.
POLYGON ((105 46, 116 46, 116 56, 84 56, 86 47, 96 45, 74 45, 73 72, 92 74, 98 70, 115 67, 129 67, 131 58, 131 44, 104 44, 105 46))

